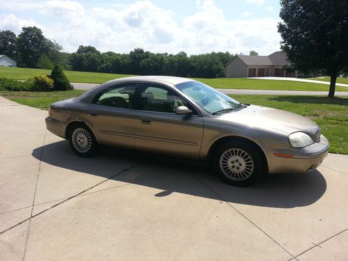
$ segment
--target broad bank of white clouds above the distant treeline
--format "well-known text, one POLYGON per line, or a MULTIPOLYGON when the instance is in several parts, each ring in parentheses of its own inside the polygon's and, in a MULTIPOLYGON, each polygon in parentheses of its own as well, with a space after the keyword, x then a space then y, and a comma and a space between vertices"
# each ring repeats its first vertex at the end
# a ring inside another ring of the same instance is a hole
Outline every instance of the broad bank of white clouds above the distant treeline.
MULTIPOLYGON (((181 22, 176 22, 173 13, 150 0, 93 8, 86 8, 76 1, 40 1, 40 4, 50 6, 46 14, 52 15, 50 20, 54 22, 47 22, 44 27, 33 19, 4 15, 0 17, 0 29, 18 33, 24 25, 36 25, 67 52, 76 52, 79 45, 92 45, 101 52, 120 53, 136 47, 171 54, 180 51, 188 54, 213 51, 247 54, 252 49, 259 54, 270 54, 279 49, 278 20, 227 19, 212 0, 196 1, 198 11, 182 18, 181 22), (72 13, 75 15, 70 15, 72 13), (62 15, 63 21, 59 19, 62 15)), ((32 12, 40 14, 35 10, 32 12)))

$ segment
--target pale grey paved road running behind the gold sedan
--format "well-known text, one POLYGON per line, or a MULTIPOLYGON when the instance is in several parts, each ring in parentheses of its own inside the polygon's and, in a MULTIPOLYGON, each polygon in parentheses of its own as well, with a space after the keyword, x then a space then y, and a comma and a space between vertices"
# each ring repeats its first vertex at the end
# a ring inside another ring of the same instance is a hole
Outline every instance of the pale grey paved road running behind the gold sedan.
MULTIPOLYGON (((99 84, 72 83, 77 90, 90 90, 99 84)), ((246 95, 312 95, 326 96, 328 92, 322 91, 301 91, 301 90, 244 90, 244 89, 218 89, 226 94, 246 94, 246 95)), ((335 96, 348 96, 347 92, 335 92, 335 96)))

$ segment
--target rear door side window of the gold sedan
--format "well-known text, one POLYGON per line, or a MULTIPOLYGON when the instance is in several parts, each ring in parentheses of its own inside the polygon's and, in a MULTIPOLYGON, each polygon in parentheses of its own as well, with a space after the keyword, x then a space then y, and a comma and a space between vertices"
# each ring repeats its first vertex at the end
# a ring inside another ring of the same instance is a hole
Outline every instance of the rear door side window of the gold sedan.
POLYGON ((113 108, 132 109, 135 84, 122 84, 103 90, 93 100, 93 104, 113 108))

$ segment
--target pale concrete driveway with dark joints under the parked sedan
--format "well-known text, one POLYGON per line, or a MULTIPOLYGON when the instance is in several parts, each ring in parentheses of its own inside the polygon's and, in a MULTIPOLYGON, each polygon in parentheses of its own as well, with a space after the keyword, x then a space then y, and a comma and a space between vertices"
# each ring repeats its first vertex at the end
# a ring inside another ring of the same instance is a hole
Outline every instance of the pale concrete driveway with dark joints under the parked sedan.
POLYGON ((45 116, 0 97, 0 260, 347 260, 345 155, 237 188, 159 157, 79 158, 45 116))

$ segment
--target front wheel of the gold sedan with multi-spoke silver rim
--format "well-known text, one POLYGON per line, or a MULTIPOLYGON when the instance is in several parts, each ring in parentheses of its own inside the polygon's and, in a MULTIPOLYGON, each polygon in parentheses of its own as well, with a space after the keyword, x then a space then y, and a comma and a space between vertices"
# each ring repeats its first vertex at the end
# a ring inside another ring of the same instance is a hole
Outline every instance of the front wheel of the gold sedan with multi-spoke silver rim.
POLYGON ((221 144, 214 153, 214 169, 228 184, 244 187, 262 171, 262 157, 255 145, 242 141, 221 144))

